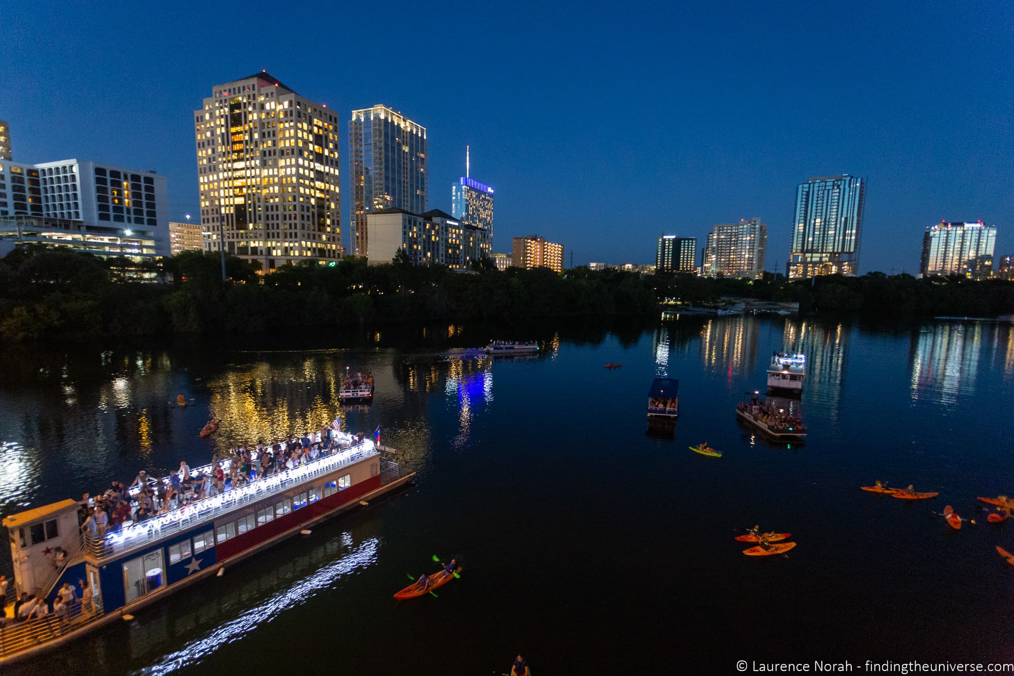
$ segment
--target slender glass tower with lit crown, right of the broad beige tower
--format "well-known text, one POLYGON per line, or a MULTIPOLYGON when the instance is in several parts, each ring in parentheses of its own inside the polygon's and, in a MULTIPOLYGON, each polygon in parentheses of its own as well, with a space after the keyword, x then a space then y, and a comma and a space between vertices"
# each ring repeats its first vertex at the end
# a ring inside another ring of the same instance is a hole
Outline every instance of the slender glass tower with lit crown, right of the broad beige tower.
POLYGON ((350 239, 356 256, 370 255, 366 214, 391 207, 412 213, 427 210, 428 153, 426 128, 401 113, 380 105, 352 112, 350 239))

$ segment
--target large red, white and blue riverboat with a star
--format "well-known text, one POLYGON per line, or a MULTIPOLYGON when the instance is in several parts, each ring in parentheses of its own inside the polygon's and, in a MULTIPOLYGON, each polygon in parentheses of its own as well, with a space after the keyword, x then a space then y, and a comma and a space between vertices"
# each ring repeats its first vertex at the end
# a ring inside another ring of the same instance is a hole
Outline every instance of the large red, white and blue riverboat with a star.
MULTIPOLYGON (((39 595, 52 603, 69 583, 85 598, 59 614, 0 626, 0 666, 129 619, 168 594, 221 574, 225 567, 394 490, 415 475, 393 449, 331 433, 328 455, 152 519, 127 522, 101 536, 80 532, 78 510, 84 501, 66 499, 4 519, 14 563, 11 594, 39 595), (60 551, 57 547, 66 552, 59 563, 51 555, 60 551), (84 590, 78 589, 79 580, 84 590)), ((319 432, 306 436, 314 445, 321 441, 319 432)), ((227 471, 228 461, 223 465, 227 471)), ((211 470, 207 465, 195 473, 211 470)), ((140 490, 131 489, 132 497, 140 490)))

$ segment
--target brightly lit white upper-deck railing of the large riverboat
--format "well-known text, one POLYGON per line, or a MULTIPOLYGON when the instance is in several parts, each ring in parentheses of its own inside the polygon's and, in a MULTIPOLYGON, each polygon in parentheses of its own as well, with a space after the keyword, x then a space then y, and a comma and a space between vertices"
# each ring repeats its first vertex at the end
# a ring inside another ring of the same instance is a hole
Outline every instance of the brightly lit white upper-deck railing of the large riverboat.
POLYGON ((318 458, 295 469, 283 470, 277 474, 257 479, 245 486, 205 497, 152 519, 131 524, 119 531, 107 532, 101 538, 84 533, 81 536, 83 551, 95 559, 119 557, 175 531, 210 522, 238 506, 263 500, 321 474, 333 472, 376 455, 378 452, 373 442, 364 440, 362 444, 345 451, 318 458))

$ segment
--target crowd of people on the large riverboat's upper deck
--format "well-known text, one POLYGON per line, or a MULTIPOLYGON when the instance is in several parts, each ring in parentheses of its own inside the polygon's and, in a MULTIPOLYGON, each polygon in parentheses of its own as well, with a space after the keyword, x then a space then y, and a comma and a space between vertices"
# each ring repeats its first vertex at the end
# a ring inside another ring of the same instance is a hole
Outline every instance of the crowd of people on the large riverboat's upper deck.
MULTIPOLYGON (((199 470, 192 470, 186 460, 180 460, 179 468, 161 479, 141 470, 130 484, 113 481, 96 497, 85 493, 78 510, 80 528, 92 539, 100 540, 106 533, 125 526, 311 463, 348 448, 348 444, 335 435, 335 429, 328 423, 317 432, 301 437, 293 435, 274 445, 239 446, 222 455, 216 453, 211 464, 199 470)), ((353 444, 361 444, 364 438, 363 432, 359 432, 353 437, 353 444)), ((66 556, 66 552, 63 555, 66 556)))

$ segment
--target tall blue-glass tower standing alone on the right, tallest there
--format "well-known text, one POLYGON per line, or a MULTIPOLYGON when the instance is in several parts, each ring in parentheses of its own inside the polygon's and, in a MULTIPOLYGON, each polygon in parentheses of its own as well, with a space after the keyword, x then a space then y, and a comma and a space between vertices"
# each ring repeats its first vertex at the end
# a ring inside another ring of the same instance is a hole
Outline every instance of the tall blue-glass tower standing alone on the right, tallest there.
POLYGON ((866 180, 859 177, 825 176, 799 184, 789 277, 857 274, 865 200, 866 180))

